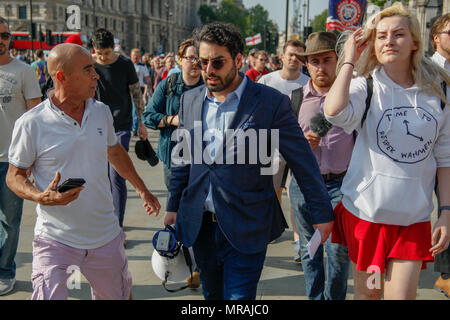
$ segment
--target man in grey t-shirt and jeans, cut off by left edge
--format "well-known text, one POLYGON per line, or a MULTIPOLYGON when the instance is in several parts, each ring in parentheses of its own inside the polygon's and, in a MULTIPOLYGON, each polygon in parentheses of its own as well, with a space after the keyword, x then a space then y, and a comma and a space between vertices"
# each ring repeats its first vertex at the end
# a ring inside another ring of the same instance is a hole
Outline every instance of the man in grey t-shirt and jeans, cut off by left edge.
POLYGON ((41 89, 33 68, 9 54, 11 32, 0 17, 0 295, 16 282, 14 257, 19 242, 23 200, 6 185, 8 149, 15 121, 41 102, 41 89))

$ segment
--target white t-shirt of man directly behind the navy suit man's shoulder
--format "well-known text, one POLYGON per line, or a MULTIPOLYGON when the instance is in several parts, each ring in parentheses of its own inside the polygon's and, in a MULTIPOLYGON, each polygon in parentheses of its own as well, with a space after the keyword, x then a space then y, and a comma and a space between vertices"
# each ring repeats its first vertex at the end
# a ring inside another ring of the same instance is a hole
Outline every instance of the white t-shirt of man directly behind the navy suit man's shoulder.
MULTIPOLYGON (((262 76, 258 83, 265 84, 266 86, 272 87, 274 89, 277 89, 281 93, 291 97, 292 91, 295 89, 298 89, 302 86, 305 86, 308 84, 309 77, 303 73, 300 73, 300 76, 295 80, 285 80, 280 75, 281 70, 274 71, 271 73, 268 73, 264 76, 262 76)), ((283 180, 283 174, 284 174, 284 168, 286 167, 286 161, 283 159, 281 154, 278 152, 275 152, 274 160, 278 163, 278 171, 273 176, 273 187, 275 190, 278 190, 281 187, 281 183, 283 180)), ((289 176, 288 176, 289 177, 289 176)), ((288 179, 286 181, 286 187, 289 186, 288 179)))

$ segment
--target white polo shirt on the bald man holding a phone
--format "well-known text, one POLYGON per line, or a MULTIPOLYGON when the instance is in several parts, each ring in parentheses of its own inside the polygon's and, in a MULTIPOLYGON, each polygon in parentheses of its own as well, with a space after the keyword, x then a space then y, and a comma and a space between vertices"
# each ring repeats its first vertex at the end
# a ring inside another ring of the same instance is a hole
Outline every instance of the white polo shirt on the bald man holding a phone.
POLYGON ((89 99, 81 126, 45 100, 15 123, 9 163, 32 168, 37 189, 45 190, 57 171, 60 183, 84 178, 77 200, 67 206, 36 207, 35 235, 79 249, 94 249, 119 233, 108 178, 108 147, 117 144, 109 107, 89 99))

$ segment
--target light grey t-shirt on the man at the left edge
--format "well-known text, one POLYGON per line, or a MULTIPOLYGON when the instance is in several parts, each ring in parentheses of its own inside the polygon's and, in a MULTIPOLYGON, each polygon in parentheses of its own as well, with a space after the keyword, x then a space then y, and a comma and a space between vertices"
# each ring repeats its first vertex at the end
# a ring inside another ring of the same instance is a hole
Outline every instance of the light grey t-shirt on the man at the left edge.
POLYGON ((0 66, 0 162, 8 162, 14 122, 27 111, 26 101, 42 96, 34 69, 19 61, 0 66))

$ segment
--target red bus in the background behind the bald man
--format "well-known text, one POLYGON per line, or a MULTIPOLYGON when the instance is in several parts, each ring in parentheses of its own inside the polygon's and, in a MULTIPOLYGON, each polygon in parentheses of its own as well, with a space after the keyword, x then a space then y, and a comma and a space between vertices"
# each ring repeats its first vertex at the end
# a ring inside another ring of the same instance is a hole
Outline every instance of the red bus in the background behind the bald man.
MULTIPOLYGON (((18 50, 31 49, 30 33, 28 31, 12 31, 11 48, 18 50)), ((44 41, 39 43, 39 39, 34 39, 33 49, 51 50, 57 44, 63 43, 71 35, 79 35, 83 43, 87 43, 88 39, 84 33, 64 31, 64 32, 52 32, 53 45, 48 45, 45 42, 45 32, 43 32, 44 41)))

